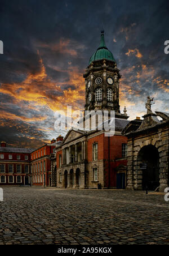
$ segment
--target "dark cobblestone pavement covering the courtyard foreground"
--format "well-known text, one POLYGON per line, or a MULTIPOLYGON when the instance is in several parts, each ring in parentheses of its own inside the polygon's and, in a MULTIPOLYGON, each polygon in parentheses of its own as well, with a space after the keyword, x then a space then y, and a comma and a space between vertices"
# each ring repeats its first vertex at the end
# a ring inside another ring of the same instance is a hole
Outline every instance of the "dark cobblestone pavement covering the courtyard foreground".
POLYGON ((0 244, 169 244, 164 195, 3 186, 0 244))

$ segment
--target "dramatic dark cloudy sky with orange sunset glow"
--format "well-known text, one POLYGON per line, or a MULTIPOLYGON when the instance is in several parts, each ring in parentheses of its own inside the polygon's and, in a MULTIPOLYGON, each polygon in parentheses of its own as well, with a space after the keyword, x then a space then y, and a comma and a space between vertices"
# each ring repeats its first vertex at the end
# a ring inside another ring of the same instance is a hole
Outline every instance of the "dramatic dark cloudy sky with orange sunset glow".
POLYGON ((55 112, 84 106, 83 73, 100 30, 121 70, 120 105, 130 119, 169 112, 168 1, 1 0, 0 139, 37 147, 66 131, 55 112))

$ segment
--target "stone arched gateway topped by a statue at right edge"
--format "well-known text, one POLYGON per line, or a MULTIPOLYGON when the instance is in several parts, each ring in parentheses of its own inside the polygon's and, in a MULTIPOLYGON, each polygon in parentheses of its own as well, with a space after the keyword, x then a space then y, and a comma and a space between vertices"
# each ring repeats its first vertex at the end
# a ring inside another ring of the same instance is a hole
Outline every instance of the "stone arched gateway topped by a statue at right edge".
POLYGON ((169 186, 169 113, 153 113, 148 97, 148 113, 123 129, 127 136, 127 189, 164 191, 169 186), (158 118, 160 117, 161 120, 158 118))

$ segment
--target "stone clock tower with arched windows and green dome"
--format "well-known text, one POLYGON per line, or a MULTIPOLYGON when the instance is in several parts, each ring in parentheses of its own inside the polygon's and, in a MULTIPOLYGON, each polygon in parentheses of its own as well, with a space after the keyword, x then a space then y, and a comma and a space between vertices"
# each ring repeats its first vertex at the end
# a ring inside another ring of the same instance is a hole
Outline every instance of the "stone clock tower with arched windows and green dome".
POLYGON ((91 56, 83 77, 86 86, 85 110, 114 110, 116 116, 123 116, 119 110, 121 75, 113 54, 105 45, 104 31, 101 31, 99 48, 91 56))

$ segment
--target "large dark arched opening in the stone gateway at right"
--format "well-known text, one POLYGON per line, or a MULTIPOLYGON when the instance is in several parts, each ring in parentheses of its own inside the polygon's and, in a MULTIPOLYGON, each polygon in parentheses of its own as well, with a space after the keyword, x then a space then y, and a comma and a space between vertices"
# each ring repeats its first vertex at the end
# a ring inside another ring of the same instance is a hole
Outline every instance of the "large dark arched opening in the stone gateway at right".
POLYGON ((159 186, 159 152, 153 145, 144 146, 137 156, 138 170, 142 170, 142 186, 155 190, 159 186))

